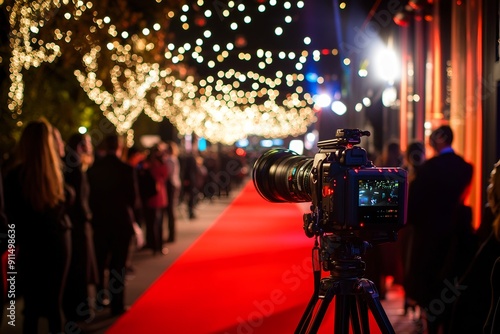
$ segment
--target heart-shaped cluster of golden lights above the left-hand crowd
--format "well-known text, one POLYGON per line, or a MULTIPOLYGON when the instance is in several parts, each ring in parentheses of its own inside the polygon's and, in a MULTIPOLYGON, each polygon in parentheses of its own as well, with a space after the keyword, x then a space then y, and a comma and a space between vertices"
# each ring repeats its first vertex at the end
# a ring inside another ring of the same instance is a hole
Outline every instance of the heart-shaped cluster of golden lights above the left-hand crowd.
POLYGON ((171 117, 167 110, 182 106, 183 101, 189 100, 193 88, 186 90, 186 85, 171 75, 171 69, 162 70, 157 63, 144 62, 142 57, 131 53, 127 46, 115 43, 112 50, 111 58, 116 64, 109 71, 109 89, 97 74, 97 59, 104 56, 99 46, 85 54, 83 61, 86 71, 76 70, 75 76, 117 132, 127 134, 128 144, 131 145, 132 126, 143 111, 154 121, 171 117), (167 102, 169 100, 170 103, 167 102), (154 105, 151 105, 151 101, 154 105))

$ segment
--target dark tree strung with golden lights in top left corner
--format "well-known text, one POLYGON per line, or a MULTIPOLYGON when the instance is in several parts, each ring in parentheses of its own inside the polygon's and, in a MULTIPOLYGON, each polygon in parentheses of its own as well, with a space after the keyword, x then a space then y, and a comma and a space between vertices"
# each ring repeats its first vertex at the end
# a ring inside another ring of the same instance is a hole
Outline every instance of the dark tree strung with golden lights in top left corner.
MULTIPOLYGON (((177 5, 178 1, 125 0, 6 0, 0 4, 4 28, 0 33, 1 150, 10 150, 23 124, 40 115, 63 135, 97 123, 102 117, 99 107, 74 76, 75 70, 84 70, 83 55, 96 45, 119 40, 133 45, 146 61, 163 65, 159 50, 167 39, 165 32, 153 30, 140 38, 135 32, 154 22, 167 27, 167 13, 177 5)), ((113 66, 111 59, 102 58, 102 73, 113 66)))

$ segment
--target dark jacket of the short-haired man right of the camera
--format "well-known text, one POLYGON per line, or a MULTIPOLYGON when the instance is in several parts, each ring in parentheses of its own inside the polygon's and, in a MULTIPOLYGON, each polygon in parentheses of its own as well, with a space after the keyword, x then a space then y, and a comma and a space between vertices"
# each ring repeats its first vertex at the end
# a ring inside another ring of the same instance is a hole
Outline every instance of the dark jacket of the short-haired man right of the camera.
POLYGON ((472 171, 457 154, 441 154, 421 166, 409 187, 412 248, 405 289, 422 306, 439 299, 446 280, 463 274, 464 268, 450 266, 450 257, 460 258, 462 264, 472 259, 473 252, 457 247, 472 233, 471 211, 463 205, 472 171))

